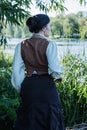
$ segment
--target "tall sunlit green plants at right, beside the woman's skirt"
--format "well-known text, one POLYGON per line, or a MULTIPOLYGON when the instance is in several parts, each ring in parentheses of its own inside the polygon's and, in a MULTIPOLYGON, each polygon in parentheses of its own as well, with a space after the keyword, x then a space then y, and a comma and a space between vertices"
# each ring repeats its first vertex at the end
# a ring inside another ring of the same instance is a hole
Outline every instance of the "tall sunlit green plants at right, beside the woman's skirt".
POLYGON ((63 82, 60 91, 65 123, 73 126, 87 120, 87 62, 68 54, 63 59, 63 82))

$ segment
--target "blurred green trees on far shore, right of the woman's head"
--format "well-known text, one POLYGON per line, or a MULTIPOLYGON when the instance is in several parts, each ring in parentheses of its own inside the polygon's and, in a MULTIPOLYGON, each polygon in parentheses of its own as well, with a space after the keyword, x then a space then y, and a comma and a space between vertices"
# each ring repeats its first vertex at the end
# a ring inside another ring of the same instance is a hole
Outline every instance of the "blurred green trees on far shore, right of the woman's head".
POLYGON ((51 18, 52 37, 87 38, 87 12, 51 18))

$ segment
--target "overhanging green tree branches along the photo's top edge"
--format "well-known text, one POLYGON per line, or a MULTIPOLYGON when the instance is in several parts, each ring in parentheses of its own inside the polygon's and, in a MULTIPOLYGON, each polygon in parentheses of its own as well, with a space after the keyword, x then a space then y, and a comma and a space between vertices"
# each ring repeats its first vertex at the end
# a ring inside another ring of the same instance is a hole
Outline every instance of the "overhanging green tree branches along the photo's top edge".
MULTIPOLYGON (((64 1, 65 0, 36 0, 37 6, 48 12, 49 10, 62 10, 64 11, 64 1)), ((80 4, 85 3, 86 0, 79 0, 80 4)), ((30 9, 32 0, 1 0, 0 1, 0 21, 11 22, 15 24, 20 24, 22 19, 30 14, 27 9, 30 9)))

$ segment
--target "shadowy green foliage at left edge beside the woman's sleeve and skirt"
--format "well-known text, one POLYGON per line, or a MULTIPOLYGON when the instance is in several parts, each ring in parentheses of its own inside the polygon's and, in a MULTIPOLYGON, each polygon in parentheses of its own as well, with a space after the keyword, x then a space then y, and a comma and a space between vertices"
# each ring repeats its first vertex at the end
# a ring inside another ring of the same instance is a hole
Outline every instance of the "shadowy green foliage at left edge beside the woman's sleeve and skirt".
POLYGON ((12 57, 0 53, 0 130, 12 130, 19 96, 11 85, 12 57))

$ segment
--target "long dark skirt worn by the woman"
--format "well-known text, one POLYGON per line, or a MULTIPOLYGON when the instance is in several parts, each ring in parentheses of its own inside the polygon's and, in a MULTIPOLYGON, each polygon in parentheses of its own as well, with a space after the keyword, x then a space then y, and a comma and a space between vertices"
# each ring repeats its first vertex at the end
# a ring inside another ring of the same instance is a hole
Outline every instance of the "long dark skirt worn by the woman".
POLYGON ((15 130, 65 130, 59 93, 49 75, 26 77, 15 130))

